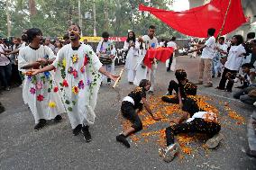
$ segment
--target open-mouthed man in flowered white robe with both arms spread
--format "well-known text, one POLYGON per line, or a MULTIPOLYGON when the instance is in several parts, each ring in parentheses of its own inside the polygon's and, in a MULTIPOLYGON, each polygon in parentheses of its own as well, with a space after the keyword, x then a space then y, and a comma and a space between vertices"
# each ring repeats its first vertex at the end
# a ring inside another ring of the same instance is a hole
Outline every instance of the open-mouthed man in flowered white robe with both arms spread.
MULTIPOLYGON (((97 93, 101 83, 101 74, 116 80, 102 66, 93 49, 79 42, 80 28, 78 25, 69 27, 71 43, 59 49, 56 60, 52 65, 34 70, 33 75, 53 69, 60 69, 62 82, 59 82, 63 91, 63 101, 69 115, 73 134, 77 136, 81 131, 84 139, 91 141, 89 125, 94 124, 96 114, 97 93)), ((56 72, 58 73, 58 72, 56 72)), ((55 78, 58 79, 58 78, 55 78)))

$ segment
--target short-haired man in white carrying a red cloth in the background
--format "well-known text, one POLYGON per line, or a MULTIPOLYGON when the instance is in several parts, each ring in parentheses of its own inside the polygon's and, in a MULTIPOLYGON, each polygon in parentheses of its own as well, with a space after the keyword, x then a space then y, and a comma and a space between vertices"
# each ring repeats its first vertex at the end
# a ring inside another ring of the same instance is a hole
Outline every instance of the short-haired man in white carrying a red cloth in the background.
POLYGON ((143 59, 146 55, 146 52, 148 49, 156 49, 158 48, 158 40, 154 36, 155 35, 156 27, 154 25, 151 25, 148 30, 148 35, 144 35, 141 38, 139 38, 139 41, 142 43, 142 48, 140 48, 139 51, 139 58, 137 63, 137 71, 136 76, 134 79, 134 85, 139 85, 142 79, 148 79, 151 81, 151 88, 149 91, 149 94, 153 94, 154 86, 155 86, 155 75, 156 75, 156 69, 157 69, 157 61, 154 59, 154 62, 152 63, 151 68, 144 66, 143 59))

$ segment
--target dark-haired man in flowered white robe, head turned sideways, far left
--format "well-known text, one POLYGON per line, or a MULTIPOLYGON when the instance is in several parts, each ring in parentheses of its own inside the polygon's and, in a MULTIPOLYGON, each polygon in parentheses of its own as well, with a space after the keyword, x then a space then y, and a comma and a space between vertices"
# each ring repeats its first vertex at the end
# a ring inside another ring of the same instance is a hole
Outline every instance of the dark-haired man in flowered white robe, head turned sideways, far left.
MULTIPOLYGON (((30 44, 19 50, 18 68, 27 73, 30 68, 50 64, 55 56, 52 50, 41 45, 42 33, 39 29, 27 31, 30 44), (30 67, 28 67, 31 65, 30 67)), ((52 90, 53 81, 50 72, 42 72, 37 76, 25 76, 23 83, 24 102, 28 103, 34 121, 34 130, 40 130, 47 123, 46 120, 62 121, 59 113, 63 112, 59 94, 52 90)))

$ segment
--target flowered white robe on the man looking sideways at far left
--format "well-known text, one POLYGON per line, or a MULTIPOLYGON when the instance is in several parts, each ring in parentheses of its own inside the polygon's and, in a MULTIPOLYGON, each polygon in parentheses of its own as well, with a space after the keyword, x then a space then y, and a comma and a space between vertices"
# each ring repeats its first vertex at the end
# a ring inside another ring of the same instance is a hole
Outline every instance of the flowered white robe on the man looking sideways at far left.
MULTIPOLYGON (((23 70, 21 67, 46 56, 55 58, 52 50, 42 45, 36 50, 31 49, 29 46, 20 49, 18 56, 19 70, 25 73, 28 70, 23 70)), ((59 113, 64 112, 59 93, 53 92, 54 86, 50 73, 48 76, 45 73, 36 76, 25 76, 23 82, 23 100, 25 103, 28 103, 35 123, 38 123, 40 119, 51 120, 59 113), (40 96, 42 101, 40 101, 40 96)))

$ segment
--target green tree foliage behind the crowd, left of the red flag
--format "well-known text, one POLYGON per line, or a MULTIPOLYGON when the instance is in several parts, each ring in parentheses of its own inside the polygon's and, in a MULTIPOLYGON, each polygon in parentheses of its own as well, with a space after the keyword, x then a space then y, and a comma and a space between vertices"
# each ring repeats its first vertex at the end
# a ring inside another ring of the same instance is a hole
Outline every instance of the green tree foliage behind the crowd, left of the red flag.
MULTIPOLYGON (((80 0, 81 13, 92 13, 93 1, 80 0)), ((160 22, 150 13, 142 13, 138 10, 139 4, 144 0, 95 0, 96 1, 96 32, 100 36, 103 31, 109 31, 111 36, 126 36, 127 31, 133 29, 137 35, 147 32, 147 28, 154 24, 157 26, 159 37, 169 38, 173 34, 181 35, 173 31, 165 23, 160 22), (133 14, 132 14, 133 13, 133 14), (133 16, 133 17, 132 17, 133 16)), ((167 9, 167 0, 151 0, 151 5, 161 9, 167 9)), ((0 4, 1 25, 0 36, 7 34, 5 2, 0 4)), ((21 36, 25 28, 40 28, 45 37, 59 37, 67 32, 70 22, 78 23, 78 0, 34 0, 36 13, 32 14, 30 0, 12 0, 8 8, 11 15, 12 36, 21 36), (30 8, 31 7, 31 8, 30 8)), ((93 20, 82 20, 82 30, 85 36, 93 36, 93 20)))

